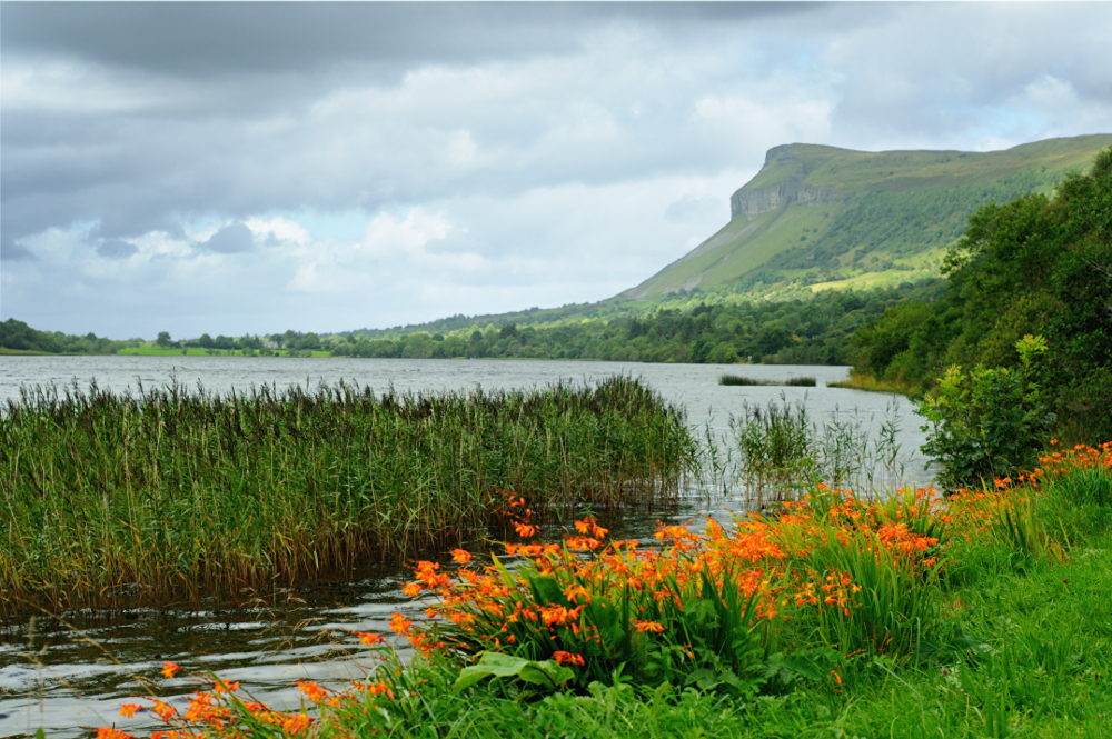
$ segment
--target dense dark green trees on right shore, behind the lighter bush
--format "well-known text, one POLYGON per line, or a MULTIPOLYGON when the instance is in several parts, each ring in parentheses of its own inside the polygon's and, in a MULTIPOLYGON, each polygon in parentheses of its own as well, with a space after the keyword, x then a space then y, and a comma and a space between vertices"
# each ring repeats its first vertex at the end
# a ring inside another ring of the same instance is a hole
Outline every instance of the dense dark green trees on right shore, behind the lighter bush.
POLYGON ((1016 340, 1042 336, 1040 381, 1060 419, 1112 438, 1112 148, 1053 198, 981 208, 943 272, 933 303, 894 306, 857 332, 858 371, 924 383, 953 364, 1015 367, 1016 340))

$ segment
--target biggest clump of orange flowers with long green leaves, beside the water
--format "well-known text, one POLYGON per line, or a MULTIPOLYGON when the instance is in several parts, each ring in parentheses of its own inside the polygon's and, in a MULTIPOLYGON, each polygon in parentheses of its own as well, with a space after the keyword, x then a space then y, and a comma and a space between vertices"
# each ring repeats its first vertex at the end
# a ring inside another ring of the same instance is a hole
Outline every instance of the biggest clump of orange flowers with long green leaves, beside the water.
POLYGON ((608 531, 586 518, 560 543, 504 545, 523 560, 513 571, 498 558, 475 568, 457 556, 464 566, 451 576, 419 562, 406 592, 433 600, 431 626, 416 629, 417 638, 463 655, 553 659, 580 668, 579 686, 618 666, 646 681, 711 663, 744 672, 784 621, 807 610, 854 617, 871 583, 832 558, 832 548, 888 562, 909 587, 940 568, 942 512, 932 491, 891 503, 820 492, 825 505, 785 503, 728 531, 713 519, 702 532, 659 525, 654 547, 607 541, 608 531))

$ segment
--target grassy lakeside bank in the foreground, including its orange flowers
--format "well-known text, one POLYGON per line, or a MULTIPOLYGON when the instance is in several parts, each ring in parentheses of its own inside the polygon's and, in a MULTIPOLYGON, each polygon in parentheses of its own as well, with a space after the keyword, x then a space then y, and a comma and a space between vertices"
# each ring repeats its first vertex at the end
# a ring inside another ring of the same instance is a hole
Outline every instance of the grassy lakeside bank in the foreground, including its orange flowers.
MULTIPOLYGON (((424 657, 271 711, 199 693, 206 736, 1112 736, 1112 445, 949 501, 817 489, 770 517, 419 563, 424 657)), ((176 671, 168 666, 168 671, 176 671)), ((125 712, 131 711, 126 708, 125 712)), ((111 736, 111 735, 109 735, 111 736)))

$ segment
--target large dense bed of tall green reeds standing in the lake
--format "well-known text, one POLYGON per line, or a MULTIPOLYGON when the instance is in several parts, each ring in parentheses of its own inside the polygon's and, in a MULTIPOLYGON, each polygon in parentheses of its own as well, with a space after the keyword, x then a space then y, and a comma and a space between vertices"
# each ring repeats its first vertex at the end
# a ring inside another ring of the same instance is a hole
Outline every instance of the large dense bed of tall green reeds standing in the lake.
POLYGON ((398 393, 23 389, 0 413, 0 608, 236 598, 535 513, 678 496, 698 446, 641 380, 398 393))

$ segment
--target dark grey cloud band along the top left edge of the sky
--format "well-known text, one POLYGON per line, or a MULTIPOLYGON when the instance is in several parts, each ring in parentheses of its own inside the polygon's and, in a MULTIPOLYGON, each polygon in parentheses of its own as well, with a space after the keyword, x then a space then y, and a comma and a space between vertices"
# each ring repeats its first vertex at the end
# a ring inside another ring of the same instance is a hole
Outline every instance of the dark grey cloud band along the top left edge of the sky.
POLYGON ((609 20, 706 26, 822 3, 51 2, 4 3, 0 43, 172 74, 268 74, 342 60, 404 69, 574 49, 609 20))

